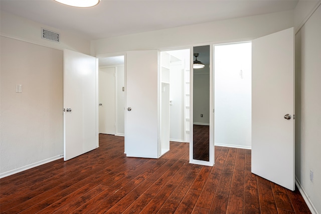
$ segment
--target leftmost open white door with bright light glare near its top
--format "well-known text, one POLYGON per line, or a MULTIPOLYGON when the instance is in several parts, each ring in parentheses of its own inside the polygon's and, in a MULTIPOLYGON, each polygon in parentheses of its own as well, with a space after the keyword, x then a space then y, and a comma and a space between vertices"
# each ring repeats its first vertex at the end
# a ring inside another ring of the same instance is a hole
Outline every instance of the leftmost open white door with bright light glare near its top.
POLYGON ((96 58, 64 50, 64 160, 98 147, 96 58))

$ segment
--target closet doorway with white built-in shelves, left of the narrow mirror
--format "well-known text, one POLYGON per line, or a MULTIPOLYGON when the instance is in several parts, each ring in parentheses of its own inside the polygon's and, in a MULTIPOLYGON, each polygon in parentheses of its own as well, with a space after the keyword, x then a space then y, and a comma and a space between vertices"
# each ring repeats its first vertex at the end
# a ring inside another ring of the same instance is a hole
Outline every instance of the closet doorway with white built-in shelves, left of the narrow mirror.
POLYGON ((161 51, 160 72, 162 139, 190 142, 190 49, 161 51))

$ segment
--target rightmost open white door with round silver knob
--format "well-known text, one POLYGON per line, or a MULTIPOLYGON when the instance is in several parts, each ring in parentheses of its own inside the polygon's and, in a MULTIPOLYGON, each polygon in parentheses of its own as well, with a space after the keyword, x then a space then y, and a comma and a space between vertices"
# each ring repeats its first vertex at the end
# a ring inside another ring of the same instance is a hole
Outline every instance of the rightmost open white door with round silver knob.
POLYGON ((252 172, 294 190, 294 30, 252 41, 252 172), (291 118, 285 119, 289 114, 291 118))

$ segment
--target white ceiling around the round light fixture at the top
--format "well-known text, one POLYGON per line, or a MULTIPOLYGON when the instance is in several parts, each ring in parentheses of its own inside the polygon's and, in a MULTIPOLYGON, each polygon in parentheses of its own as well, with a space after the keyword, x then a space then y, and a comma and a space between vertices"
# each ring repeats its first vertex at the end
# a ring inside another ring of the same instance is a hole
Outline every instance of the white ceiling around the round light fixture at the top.
POLYGON ((298 0, 101 0, 74 8, 53 0, 0 0, 6 11, 89 40, 293 10, 298 0))

